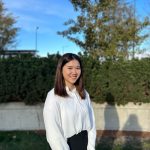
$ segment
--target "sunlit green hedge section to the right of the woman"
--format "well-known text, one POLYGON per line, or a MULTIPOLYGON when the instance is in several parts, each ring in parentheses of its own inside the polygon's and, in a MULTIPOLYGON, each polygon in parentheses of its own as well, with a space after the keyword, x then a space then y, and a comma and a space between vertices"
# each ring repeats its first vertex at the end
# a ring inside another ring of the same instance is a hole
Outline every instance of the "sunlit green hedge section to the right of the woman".
POLYGON ((150 102, 150 59, 107 60, 88 58, 85 83, 93 101, 109 104, 150 102))

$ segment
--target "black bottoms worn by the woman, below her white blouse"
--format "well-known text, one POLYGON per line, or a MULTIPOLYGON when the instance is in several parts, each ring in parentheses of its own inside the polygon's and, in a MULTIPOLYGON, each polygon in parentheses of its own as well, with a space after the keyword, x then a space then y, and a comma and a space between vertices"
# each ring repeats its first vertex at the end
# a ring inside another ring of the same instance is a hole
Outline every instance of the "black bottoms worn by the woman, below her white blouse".
POLYGON ((87 150, 88 134, 87 131, 82 131, 67 139, 70 150, 87 150))

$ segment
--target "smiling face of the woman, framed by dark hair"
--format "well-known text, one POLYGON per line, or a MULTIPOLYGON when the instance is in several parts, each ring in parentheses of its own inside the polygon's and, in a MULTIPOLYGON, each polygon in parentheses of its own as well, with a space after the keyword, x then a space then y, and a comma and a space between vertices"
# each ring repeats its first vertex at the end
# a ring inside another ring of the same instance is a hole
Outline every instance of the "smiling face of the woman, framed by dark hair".
POLYGON ((80 63, 74 59, 66 63, 62 68, 62 74, 65 80, 66 86, 72 89, 74 83, 78 80, 81 75, 80 63))

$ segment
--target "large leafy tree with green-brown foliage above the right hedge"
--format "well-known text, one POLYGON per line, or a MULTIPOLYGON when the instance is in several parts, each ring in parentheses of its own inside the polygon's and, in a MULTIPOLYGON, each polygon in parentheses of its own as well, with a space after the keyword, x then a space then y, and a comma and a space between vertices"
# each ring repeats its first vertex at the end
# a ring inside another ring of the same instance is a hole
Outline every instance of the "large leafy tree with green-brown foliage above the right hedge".
POLYGON ((76 20, 65 22, 68 29, 59 31, 93 57, 128 57, 148 37, 140 34, 149 21, 135 17, 134 7, 122 0, 70 0, 76 20))

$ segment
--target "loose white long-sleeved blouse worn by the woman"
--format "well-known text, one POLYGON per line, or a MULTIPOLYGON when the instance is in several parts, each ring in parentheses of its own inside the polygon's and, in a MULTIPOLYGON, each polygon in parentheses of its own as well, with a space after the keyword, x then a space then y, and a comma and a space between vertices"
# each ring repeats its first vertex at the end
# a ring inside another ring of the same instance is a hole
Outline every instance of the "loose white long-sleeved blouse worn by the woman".
POLYGON ((43 110, 47 141, 52 150, 70 150, 67 138, 87 130, 87 150, 95 150, 95 118, 89 94, 81 100, 76 89, 66 87, 66 91, 68 97, 55 95, 54 89, 47 95, 43 110))

